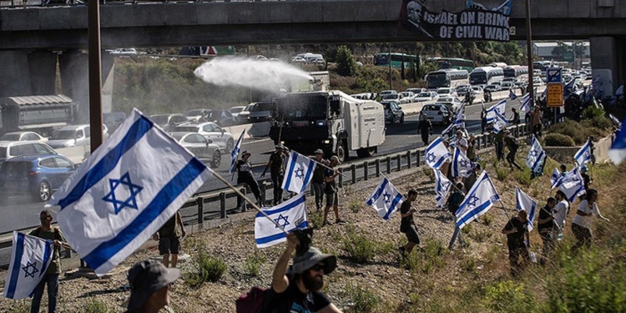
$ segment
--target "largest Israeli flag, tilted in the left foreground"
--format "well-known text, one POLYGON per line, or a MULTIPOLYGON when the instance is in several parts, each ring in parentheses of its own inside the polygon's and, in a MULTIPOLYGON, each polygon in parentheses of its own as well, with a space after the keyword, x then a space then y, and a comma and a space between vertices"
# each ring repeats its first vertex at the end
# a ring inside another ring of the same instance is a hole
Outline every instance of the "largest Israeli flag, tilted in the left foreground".
POLYGON ((211 175, 140 111, 53 194, 68 243, 103 275, 170 220, 211 175))

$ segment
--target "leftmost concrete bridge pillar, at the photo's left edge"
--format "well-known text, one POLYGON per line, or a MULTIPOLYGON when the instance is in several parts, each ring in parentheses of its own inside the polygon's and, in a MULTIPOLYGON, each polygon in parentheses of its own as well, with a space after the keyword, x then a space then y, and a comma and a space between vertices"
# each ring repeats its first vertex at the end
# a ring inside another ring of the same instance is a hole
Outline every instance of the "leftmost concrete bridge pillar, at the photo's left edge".
POLYGON ((0 51, 0 69, 0 97, 32 94, 26 51, 0 51))

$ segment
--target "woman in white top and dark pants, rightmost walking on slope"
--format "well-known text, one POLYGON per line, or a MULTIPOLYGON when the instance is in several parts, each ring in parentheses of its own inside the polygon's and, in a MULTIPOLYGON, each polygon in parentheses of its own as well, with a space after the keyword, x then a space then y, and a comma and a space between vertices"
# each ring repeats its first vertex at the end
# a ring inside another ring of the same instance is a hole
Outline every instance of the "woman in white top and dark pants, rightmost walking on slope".
POLYGON ((593 214, 598 215, 600 218, 608 222, 608 218, 605 218, 598 210, 597 205, 598 191, 590 189, 587 191, 587 199, 582 200, 578 205, 576 215, 572 220, 572 232, 578 241, 573 245, 572 250, 577 250, 582 245, 589 247, 593 240, 591 233, 592 217, 593 214))

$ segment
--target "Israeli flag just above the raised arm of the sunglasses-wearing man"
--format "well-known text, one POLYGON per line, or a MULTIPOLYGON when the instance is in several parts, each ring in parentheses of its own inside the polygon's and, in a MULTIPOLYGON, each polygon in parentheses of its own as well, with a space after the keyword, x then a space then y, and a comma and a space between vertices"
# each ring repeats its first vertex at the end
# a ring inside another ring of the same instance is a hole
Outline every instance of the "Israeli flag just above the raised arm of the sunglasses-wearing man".
POLYGON ((287 241, 287 235, 276 225, 280 225, 285 232, 289 233, 295 228, 307 228, 307 203, 304 193, 290 198, 275 207, 262 208, 263 213, 257 213, 254 218, 254 240, 257 247, 270 247, 280 242, 287 241), (275 222, 275 223, 274 223, 275 222))

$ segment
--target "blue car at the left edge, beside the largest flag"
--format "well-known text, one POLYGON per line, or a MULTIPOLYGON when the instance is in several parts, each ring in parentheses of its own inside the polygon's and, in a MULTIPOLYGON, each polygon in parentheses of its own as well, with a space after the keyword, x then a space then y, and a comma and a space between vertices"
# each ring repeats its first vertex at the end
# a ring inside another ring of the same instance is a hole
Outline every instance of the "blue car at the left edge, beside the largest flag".
POLYGON ((29 155, 6 160, 0 167, 0 192, 47 202, 76 169, 62 155, 29 155))

